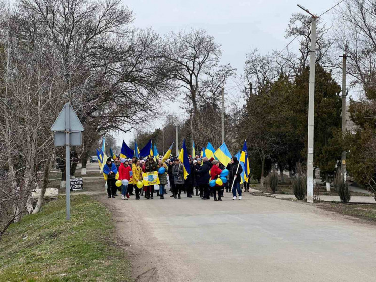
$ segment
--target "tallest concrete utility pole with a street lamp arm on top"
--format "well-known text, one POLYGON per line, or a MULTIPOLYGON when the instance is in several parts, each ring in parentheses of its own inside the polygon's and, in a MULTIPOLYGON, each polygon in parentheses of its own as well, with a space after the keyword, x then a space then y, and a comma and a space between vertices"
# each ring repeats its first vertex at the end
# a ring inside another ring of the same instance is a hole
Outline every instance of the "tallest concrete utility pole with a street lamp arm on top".
POLYGON ((307 154, 307 202, 313 203, 313 148, 314 148, 314 112, 315 112, 315 63, 316 63, 316 20, 318 17, 298 4, 298 7, 312 16, 311 55, 309 65, 309 102, 308 102, 308 154, 307 154))

